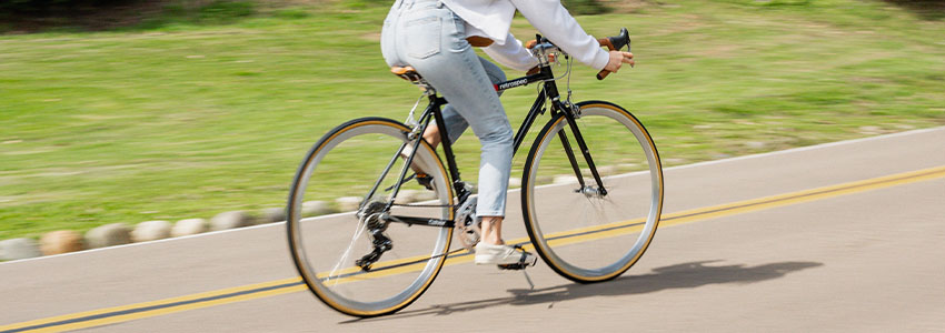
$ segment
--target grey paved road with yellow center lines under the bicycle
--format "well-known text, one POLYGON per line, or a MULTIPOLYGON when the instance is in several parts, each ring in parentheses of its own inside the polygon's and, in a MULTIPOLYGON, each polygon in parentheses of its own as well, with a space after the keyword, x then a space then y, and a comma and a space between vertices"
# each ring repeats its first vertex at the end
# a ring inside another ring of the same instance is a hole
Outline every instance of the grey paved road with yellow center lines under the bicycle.
POLYGON ((664 211, 616 281, 455 264, 372 320, 298 285, 281 225, 3 263, 0 332, 945 331, 945 128, 669 169, 664 211))

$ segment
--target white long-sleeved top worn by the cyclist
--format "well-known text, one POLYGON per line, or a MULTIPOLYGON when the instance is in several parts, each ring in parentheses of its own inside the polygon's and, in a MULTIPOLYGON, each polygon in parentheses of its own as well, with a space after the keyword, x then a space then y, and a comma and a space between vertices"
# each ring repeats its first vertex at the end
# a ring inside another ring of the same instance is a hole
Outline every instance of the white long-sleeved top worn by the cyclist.
POLYGON ((466 34, 489 38, 483 49, 496 61, 517 70, 529 70, 538 60, 509 33, 515 10, 570 57, 601 70, 610 60, 597 39, 587 34, 560 0, 442 0, 466 21, 466 34))

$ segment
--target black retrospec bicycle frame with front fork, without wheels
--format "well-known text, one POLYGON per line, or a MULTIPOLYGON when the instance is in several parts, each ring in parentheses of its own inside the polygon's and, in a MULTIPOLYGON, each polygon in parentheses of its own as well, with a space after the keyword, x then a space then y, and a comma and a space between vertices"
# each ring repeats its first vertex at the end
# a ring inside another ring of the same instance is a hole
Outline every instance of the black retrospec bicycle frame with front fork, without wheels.
MULTIPOLYGON (((575 107, 571 103, 564 103, 564 102, 560 101, 560 94, 558 92, 558 87, 555 83, 554 79, 555 79, 555 77, 554 77, 554 73, 551 72, 550 65, 545 65, 545 67, 540 68, 540 71, 538 73, 527 75, 527 77, 523 77, 523 78, 518 78, 518 79, 514 79, 514 80, 508 80, 508 81, 500 82, 500 83, 497 83, 497 84, 494 85, 496 92, 499 92, 499 91, 504 91, 504 90, 508 90, 508 89, 513 89, 513 88, 517 88, 517 87, 528 85, 528 84, 536 83, 536 82, 541 82, 541 84, 544 84, 543 89, 538 92, 538 97, 535 99, 535 103, 531 104, 531 109, 526 114, 525 120, 521 122, 521 125, 519 125, 518 131, 515 134, 515 138, 514 138, 515 145, 514 145, 514 149, 513 149, 513 155, 518 151, 519 147, 521 147, 523 141, 525 141, 525 135, 531 129, 531 125, 535 123, 535 120, 538 119, 539 115, 545 114, 545 111, 546 111, 545 103, 546 103, 546 101, 550 101, 553 119, 555 117, 558 117, 558 114, 564 114, 565 119, 567 120, 567 122, 568 122, 570 129, 571 129, 571 133, 575 137, 575 141, 577 141, 578 149, 580 149, 581 155, 584 157, 585 161, 587 162, 588 168, 590 169, 590 173, 594 176, 594 181, 597 183, 597 186, 598 186, 597 191, 599 191, 599 193, 601 195, 606 195, 607 190, 604 188, 604 182, 600 180, 600 174, 597 172, 597 167, 594 164, 594 159, 590 155, 590 151, 588 151, 588 149, 587 149, 587 143, 585 143, 584 137, 580 134, 580 130, 578 129, 577 123, 575 121, 579 117, 579 113, 578 113, 579 110, 575 110, 575 108, 577 108, 577 107, 575 107)), ((426 131, 427 127, 429 125, 430 118, 432 117, 434 118, 432 120, 436 121, 437 128, 439 128, 440 142, 442 144, 444 154, 446 155, 446 161, 447 161, 447 164, 448 164, 447 167, 449 169, 449 176, 452 180, 452 186, 454 186, 454 190, 457 193, 456 196, 458 199, 458 202, 464 202, 464 201, 466 201, 466 199, 469 195, 471 195, 471 193, 468 190, 466 190, 466 188, 464 186, 462 180, 461 180, 460 174, 459 174, 459 168, 456 165, 456 157, 452 153, 452 143, 449 141, 449 133, 447 133, 446 122, 444 121, 444 118, 442 118, 441 107, 447 104, 447 101, 446 101, 446 99, 437 95, 436 93, 431 93, 429 95, 429 101, 430 101, 429 105, 427 105, 427 108, 424 110, 424 112, 420 115, 420 120, 418 122, 419 127, 420 127, 419 131, 412 132, 412 133, 420 133, 419 138, 409 138, 411 140, 417 139, 417 142, 414 143, 414 152, 416 153, 418 151, 418 148, 419 148, 419 144, 420 144, 419 140, 422 139, 422 133, 426 131)), ((409 135, 410 133, 407 133, 407 134, 409 135)), ((574 169, 575 175, 577 175, 578 183, 580 184, 580 190, 578 190, 578 191, 581 191, 583 189, 586 188, 586 184, 585 184, 584 176, 581 175, 581 172, 580 172, 580 167, 578 164, 578 160, 574 154, 574 150, 571 148, 570 141, 568 140, 567 133, 565 131, 558 132, 558 135, 561 140, 561 144, 564 145, 565 153, 567 154, 568 160, 570 161, 571 168, 574 169)), ((405 142, 404 145, 401 147, 401 150, 410 141, 405 142)), ((414 158, 412 154, 410 157, 408 157, 408 160, 406 161, 406 163, 407 163, 406 165, 410 165, 412 158, 414 158)), ((396 157, 395 157, 395 159, 396 159, 396 157)), ((391 164, 392 164, 392 161, 391 161, 391 164)), ((406 170, 407 170, 407 168, 405 167, 405 169, 401 171, 401 175, 400 175, 401 180, 405 179, 404 176, 406 175, 406 170)), ((395 191, 394 191, 394 198, 397 196, 397 193, 400 190, 400 184, 402 182, 404 181, 401 181, 400 183, 398 183, 396 185, 397 189, 395 189, 395 191)), ((394 205, 392 201, 388 204, 388 209, 391 205, 394 205)), ((456 206, 452 206, 451 209, 455 211, 456 206)), ((406 224, 409 224, 409 225, 427 225, 427 226, 437 226, 437 228, 445 228, 445 226, 446 228, 452 228, 454 226, 452 221, 447 221, 447 220, 441 220, 441 219, 397 216, 397 215, 390 215, 390 216, 387 216, 387 219, 391 222, 400 222, 400 223, 406 223, 406 224)))

